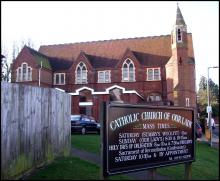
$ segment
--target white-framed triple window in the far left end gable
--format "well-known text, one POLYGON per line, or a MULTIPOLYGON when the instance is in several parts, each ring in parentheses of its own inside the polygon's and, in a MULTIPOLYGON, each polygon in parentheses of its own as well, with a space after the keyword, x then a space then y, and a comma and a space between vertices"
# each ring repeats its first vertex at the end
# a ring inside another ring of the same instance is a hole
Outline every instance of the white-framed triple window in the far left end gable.
POLYGON ((17 68, 16 81, 32 81, 32 68, 28 66, 27 63, 22 63, 21 66, 17 68))

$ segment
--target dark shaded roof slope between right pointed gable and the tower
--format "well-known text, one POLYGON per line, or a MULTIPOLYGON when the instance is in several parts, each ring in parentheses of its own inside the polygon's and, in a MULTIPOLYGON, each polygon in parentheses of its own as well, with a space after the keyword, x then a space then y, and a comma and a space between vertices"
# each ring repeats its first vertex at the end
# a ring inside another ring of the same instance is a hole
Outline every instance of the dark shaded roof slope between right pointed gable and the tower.
POLYGON ((170 57, 132 51, 136 59, 144 66, 165 66, 170 57))

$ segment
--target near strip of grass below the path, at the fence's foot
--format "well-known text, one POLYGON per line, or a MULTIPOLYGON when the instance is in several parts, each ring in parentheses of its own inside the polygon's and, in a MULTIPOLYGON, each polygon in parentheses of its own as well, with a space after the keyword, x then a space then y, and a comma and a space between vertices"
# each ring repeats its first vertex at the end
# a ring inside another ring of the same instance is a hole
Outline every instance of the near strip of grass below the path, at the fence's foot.
MULTIPOLYGON (((100 180, 100 167, 77 157, 57 158, 50 165, 36 171, 25 180, 100 180)), ((124 175, 109 180, 131 180, 124 175)))

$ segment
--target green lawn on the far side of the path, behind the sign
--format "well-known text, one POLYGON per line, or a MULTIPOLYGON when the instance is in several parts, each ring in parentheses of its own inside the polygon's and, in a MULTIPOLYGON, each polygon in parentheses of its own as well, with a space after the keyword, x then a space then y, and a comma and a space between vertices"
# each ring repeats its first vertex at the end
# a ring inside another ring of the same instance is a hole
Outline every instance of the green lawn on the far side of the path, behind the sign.
MULTIPOLYGON (((72 135, 72 145, 76 148, 100 154, 100 135, 72 135)), ((158 168, 160 175, 171 179, 184 179, 184 164, 158 168)), ((219 150, 206 143, 196 143, 196 161, 192 164, 192 179, 219 179, 219 150)))

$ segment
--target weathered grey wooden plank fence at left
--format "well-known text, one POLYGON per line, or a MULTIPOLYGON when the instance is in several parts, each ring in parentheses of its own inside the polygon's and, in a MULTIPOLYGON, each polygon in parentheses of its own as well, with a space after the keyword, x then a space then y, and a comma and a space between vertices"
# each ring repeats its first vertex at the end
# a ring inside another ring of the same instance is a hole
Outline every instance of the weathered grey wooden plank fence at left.
POLYGON ((67 156, 71 96, 50 88, 1 82, 1 179, 67 156))

